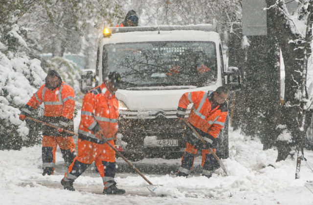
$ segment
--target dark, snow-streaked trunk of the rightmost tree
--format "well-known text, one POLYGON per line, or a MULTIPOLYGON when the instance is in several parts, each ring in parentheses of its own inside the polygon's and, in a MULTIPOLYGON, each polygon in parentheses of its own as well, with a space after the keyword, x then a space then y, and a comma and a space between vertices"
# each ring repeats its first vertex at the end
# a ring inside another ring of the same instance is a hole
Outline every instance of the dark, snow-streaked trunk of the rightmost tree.
MULTIPOLYGON (((276 0, 266 0, 268 7, 274 5, 276 0)), ((277 6, 268 9, 268 29, 278 39, 285 64, 285 99, 282 107, 280 126, 277 139, 277 161, 285 160, 291 147, 301 138, 303 126, 303 98, 305 86, 304 39, 295 34, 291 22, 277 6), (291 139, 286 139, 290 133, 291 139)))

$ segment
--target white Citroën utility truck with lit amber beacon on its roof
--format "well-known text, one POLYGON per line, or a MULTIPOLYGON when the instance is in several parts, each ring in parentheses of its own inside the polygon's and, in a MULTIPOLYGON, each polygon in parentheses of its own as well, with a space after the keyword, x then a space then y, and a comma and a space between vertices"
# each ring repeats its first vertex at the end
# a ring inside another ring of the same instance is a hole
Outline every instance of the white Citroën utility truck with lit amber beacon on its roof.
MULTIPOLYGON (((101 84, 111 71, 121 74, 118 132, 127 143, 122 153, 131 160, 181 157, 185 124, 176 112, 183 93, 241 87, 238 68, 224 67, 214 24, 105 28, 95 74, 82 74, 82 91, 92 88, 93 78, 101 84)), ((228 123, 219 137, 217 154, 227 158, 228 123)))

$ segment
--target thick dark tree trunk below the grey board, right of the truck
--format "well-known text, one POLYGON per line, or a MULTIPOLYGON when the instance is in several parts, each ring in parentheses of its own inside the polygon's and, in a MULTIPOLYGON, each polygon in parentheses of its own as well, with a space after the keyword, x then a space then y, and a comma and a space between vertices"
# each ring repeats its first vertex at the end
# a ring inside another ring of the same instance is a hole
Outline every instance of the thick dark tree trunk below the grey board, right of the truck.
POLYGON ((248 38, 243 131, 250 136, 260 136, 264 149, 268 149, 276 140, 279 116, 279 52, 275 39, 269 36, 248 38))

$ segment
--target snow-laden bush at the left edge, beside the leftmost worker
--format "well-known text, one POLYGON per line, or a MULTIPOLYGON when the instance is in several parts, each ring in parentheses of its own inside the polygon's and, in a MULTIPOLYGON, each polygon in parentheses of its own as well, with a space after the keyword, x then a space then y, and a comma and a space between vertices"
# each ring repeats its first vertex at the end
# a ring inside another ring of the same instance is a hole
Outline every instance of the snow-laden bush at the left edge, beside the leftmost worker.
MULTIPOLYGON (((19 119, 20 108, 46 76, 41 62, 26 54, 29 49, 22 35, 27 29, 15 23, 19 13, 19 10, 12 12, 0 24, 0 149, 20 149, 41 140, 37 125, 32 124, 29 129, 19 119)), ((40 113, 41 109, 34 112, 40 113)))

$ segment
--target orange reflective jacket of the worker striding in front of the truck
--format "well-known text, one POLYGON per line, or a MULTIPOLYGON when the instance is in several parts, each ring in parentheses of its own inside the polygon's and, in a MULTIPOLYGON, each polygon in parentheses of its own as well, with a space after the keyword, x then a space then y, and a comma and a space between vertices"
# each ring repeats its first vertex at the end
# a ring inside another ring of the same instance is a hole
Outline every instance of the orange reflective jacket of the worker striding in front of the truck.
POLYGON ((104 83, 89 90, 83 98, 78 138, 93 143, 103 143, 95 137, 102 130, 104 137, 113 140, 118 129, 118 101, 104 83))

